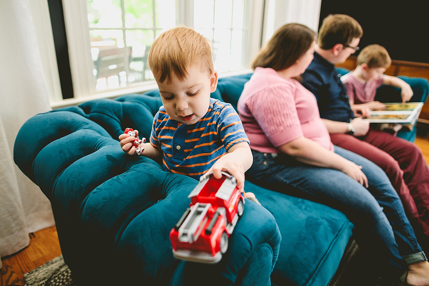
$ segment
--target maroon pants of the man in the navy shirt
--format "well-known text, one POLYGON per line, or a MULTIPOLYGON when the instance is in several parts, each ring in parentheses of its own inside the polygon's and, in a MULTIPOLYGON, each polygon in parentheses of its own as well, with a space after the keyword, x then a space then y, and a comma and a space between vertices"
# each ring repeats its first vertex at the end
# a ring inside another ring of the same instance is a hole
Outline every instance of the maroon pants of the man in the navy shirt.
POLYGON ((331 141, 374 162, 386 172, 409 217, 429 236, 429 170, 420 149, 410 141, 370 129, 364 137, 331 134, 331 141))

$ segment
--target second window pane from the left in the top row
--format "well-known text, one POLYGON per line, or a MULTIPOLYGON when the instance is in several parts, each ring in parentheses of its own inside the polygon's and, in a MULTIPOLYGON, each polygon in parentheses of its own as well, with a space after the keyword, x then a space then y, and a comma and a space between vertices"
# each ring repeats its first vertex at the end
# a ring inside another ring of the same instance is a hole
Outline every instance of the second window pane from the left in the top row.
POLYGON ((124 0, 125 27, 151 28, 154 26, 152 0, 124 0))

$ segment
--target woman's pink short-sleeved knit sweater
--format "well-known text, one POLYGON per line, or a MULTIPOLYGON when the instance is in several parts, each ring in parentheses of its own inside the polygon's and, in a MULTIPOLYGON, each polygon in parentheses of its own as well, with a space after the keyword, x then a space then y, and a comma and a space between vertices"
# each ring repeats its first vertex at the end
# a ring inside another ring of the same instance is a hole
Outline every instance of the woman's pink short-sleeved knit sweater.
POLYGON ((277 147, 304 136, 333 151, 314 95, 295 79, 257 67, 238 102, 250 148, 280 153, 277 147))

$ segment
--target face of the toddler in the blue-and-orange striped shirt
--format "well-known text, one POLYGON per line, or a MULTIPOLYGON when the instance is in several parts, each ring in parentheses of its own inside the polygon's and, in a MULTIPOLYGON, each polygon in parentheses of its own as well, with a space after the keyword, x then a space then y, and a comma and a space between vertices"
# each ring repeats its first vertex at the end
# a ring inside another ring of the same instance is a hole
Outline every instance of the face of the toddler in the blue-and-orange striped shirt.
POLYGON ((164 108, 174 120, 191 125, 208 111, 210 93, 218 85, 218 72, 210 75, 199 64, 187 68, 187 77, 182 81, 172 75, 171 81, 158 84, 164 108))

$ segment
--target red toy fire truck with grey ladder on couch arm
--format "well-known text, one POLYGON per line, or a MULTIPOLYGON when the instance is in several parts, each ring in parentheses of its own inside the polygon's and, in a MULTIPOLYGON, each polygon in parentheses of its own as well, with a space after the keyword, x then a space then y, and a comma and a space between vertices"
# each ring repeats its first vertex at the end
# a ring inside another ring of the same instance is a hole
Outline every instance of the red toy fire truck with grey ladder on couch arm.
POLYGON ((244 198, 236 178, 205 174, 189 194, 187 208, 170 232, 177 259, 215 264, 228 250, 228 239, 244 211, 244 198))

